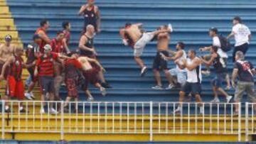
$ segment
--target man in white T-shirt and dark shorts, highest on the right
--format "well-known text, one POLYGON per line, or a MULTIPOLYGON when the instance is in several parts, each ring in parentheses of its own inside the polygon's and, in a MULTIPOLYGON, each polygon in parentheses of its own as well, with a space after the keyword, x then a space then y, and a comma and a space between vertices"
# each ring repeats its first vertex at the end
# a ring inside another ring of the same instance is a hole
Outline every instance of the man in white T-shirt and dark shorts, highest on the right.
POLYGON ((239 16, 233 18, 233 28, 230 35, 227 38, 235 37, 235 49, 233 51, 233 62, 235 62, 235 53, 241 51, 247 52, 249 48, 249 42, 251 38, 250 29, 242 24, 242 19, 239 16))

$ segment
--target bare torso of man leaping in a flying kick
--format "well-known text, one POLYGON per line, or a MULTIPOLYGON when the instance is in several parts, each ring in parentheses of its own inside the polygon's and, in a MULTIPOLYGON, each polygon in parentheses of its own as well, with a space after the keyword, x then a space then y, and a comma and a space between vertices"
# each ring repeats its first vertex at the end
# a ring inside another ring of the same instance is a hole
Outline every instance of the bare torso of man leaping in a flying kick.
POLYGON ((129 28, 126 28, 126 33, 129 35, 129 38, 133 41, 133 43, 136 43, 139 38, 142 37, 142 30, 139 29, 139 26, 132 25, 129 28))

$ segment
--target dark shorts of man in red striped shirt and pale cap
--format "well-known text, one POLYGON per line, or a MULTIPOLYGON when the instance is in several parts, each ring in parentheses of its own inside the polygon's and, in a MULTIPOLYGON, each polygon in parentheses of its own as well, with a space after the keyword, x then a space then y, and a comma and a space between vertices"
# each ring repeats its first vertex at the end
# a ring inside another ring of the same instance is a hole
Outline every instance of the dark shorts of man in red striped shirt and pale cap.
POLYGON ((54 94, 54 78, 48 76, 39 77, 40 87, 42 94, 46 95, 47 93, 54 94))

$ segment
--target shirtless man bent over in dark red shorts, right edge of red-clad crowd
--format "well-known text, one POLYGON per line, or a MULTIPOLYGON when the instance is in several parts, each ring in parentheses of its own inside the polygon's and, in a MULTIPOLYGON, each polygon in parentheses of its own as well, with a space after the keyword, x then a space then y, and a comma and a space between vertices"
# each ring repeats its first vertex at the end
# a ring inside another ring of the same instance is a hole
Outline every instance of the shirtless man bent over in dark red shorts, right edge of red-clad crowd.
POLYGON ((83 84, 83 90, 85 90, 85 94, 87 95, 87 101, 93 101, 94 98, 88 89, 89 83, 93 84, 95 87, 100 89, 102 96, 107 94, 106 89, 102 87, 102 85, 98 82, 97 73, 100 71, 105 72, 105 69, 100 65, 100 63, 92 58, 89 57, 79 57, 78 61, 82 64, 85 72, 82 72, 83 76, 85 77, 85 83, 83 84), (95 64, 95 65, 92 65, 95 64))

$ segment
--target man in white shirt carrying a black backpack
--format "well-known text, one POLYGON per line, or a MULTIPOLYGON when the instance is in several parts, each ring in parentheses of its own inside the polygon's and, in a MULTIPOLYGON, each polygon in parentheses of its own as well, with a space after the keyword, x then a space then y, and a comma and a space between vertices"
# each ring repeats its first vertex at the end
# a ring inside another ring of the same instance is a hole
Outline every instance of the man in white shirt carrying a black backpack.
MULTIPOLYGON (((218 55, 220 55, 221 58, 223 58, 225 65, 228 65, 228 54, 226 52, 224 52, 221 49, 221 43, 220 43, 220 38, 218 37, 218 29, 217 28, 210 28, 209 29, 209 35, 211 38, 213 38, 213 45, 210 45, 208 47, 204 47, 204 48, 200 48, 201 51, 210 51, 210 49, 212 48, 212 46, 216 46, 218 47, 218 55)), ((210 60, 210 55, 206 55, 203 57, 204 60, 210 60)), ((207 67, 208 70, 206 70, 206 72, 203 72, 203 74, 210 74, 210 67, 207 67)), ((230 84, 230 77, 228 75, 228 73, 226 74, 225 80, 227 82, 227 87, 225 88, 226 90, 231 89, 231 84, 230 84)))

